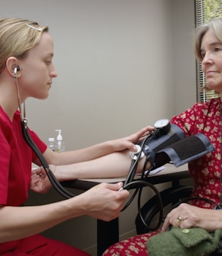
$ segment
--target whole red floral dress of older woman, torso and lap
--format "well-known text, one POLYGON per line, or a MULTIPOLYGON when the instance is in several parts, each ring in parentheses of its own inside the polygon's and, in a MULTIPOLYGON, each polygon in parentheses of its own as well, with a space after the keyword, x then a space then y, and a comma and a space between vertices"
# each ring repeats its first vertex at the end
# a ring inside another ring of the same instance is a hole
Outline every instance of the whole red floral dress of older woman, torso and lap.
MULTIPOLYGON (((194 180, 193 196, 201 196, 220 203, 220 98, 207 103, 195 103, 193 107, 175 116, 171 123, 184 130, 186 136, 204 133, 215 150, 212 153, 189 162, 189 171, 194 180)), ((201 208, 214 208, 209 202, 192 202, 201 208)), ((147 256, 146 241, 158 231, 120 241, 104 251, 103 256, 147 256)))

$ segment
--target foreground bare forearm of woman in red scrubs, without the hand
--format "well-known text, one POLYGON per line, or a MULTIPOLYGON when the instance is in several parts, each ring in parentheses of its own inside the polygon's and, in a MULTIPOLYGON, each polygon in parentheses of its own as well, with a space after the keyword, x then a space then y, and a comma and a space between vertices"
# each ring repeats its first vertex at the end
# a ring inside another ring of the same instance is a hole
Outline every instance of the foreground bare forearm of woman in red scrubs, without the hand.
MULTIPOLYGON (((0 242, 25 238, 38 234, 71 217, 67 202, 51 205, 2 206, 0 208, 0 242)), ((81 212, 77 212, 76 216, 81 212)), ((76 217, 75 215, 73 217, 76 217)))

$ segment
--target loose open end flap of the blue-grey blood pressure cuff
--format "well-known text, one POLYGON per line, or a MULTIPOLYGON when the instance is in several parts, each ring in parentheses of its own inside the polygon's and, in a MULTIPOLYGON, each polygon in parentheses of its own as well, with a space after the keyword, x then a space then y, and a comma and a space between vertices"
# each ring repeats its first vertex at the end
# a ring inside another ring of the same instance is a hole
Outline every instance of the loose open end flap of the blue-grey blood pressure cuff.
MULTIPOLYGON (((214 146, 207 136, 197 133, 159 150, 156 153, 156 159, 161 159, 162 154, 165 153, 171 162, 178 167, 212 151, 214 151, 214 146)), ((164 158, 165 156, 162 157, 164 158)))

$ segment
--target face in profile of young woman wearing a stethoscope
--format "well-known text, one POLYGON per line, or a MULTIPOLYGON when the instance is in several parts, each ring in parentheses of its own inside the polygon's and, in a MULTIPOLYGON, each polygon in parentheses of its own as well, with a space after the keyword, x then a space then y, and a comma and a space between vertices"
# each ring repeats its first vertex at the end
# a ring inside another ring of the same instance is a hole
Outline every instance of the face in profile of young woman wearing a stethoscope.
POLYGON ((51 88, 52 79, 57 77, 52 59, 54 45, 51 35, 43 32, 41 42, 20 61, 21 77, 18 79, 21 100, 27 97, 45 99, 51 88))

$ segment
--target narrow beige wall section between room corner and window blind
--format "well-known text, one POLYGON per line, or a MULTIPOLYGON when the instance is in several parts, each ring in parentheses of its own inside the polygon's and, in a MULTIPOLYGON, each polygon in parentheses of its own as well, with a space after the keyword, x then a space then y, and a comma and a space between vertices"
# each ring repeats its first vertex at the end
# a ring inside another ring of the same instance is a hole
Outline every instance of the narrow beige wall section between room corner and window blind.
POLYGON ((193 51, 194 0, 174 0, 174 87, 175 114, 197 100, 193 51))

